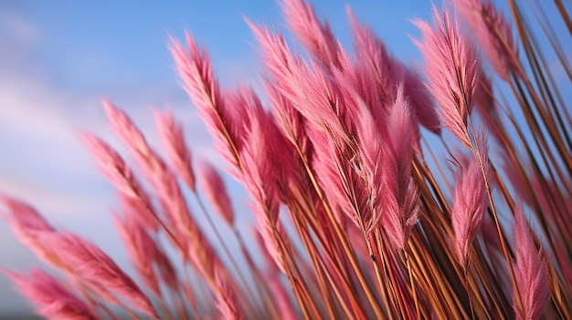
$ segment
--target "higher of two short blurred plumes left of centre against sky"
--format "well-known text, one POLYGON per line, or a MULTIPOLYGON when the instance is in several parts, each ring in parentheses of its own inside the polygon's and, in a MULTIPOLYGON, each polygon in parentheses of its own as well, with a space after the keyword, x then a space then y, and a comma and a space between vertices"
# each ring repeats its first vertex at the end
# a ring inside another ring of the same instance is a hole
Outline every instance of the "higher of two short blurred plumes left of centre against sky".
POLYGON ((189 189, 195 192, 195 173, 191 163, 191 152, 185 143, 183 127, 175 122, 171 110, 164 115, 155 112, 155 120, 159 135, 163 139, 167 159, 171 161, 175 172, 185 181, 189 189))

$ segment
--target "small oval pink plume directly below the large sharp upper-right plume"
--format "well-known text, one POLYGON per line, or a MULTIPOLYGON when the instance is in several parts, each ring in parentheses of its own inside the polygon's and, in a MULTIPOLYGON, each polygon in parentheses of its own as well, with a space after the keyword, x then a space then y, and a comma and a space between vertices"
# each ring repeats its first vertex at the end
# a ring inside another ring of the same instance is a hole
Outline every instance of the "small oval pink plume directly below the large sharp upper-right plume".
POLYGON ((482 170, 474 157, 461 158, 455 184, 451 221, 455 232, 455 253, 464 268, 471 242, 481 229, 488 206, 482 170))

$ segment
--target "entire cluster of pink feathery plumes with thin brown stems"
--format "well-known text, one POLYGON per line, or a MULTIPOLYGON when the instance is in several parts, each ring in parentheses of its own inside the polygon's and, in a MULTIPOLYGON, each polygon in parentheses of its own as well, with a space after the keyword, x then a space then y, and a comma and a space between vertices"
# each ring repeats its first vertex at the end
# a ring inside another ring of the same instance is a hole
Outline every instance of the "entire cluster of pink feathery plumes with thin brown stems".
POLYGON ((5 274, 49 319, 572 318, 572 120, 543 50, 560 57, 565 85, 572 73, 514 0, 514 23, 483 1, 450 0, 432 23, 413 22, 418 67, 349 9, 347 51, 311 5, 283 0, 307 55, 247 22, 262 99, 221 88, 193 37, 174 39, 185 90, 248 191, 254 228, 238 230, 219 171, 194 163, 172 113, 155 115, 163 156, 104 101, 134 166, 81 139, 117 189, 113 217, 136 277, 9 196, 17 238, 59 273, 5 274))

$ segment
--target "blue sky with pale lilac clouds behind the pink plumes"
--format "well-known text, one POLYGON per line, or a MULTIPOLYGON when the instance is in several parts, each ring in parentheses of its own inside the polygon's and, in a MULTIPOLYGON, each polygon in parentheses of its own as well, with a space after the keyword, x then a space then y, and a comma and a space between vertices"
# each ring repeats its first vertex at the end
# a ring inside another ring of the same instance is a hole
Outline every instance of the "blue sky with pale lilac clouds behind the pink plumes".
MULTIPOLYGON (((349 4, 397 57, 420 61, 409 38, 418 31, 409 19, 429 18, 429 1, 311 2, 346 47, 351 45, 349 4)), ((256 86, 257 49, 243 16, 283 26, 280 8, 271 0, 0 3, 0 191, 30 201, 50 222, 85 235, 124 265, 127 259, 111 228, 113 190, 76 132, 95 132, 122 150, 101 109, 100 99, 110 98, 159 147, 151 107, 170 105, 185 124, 194 154, 219 163, 179 86, 168 37, 182 36, 187 28, 208 47, 225 86, 238 81, 256 86)), ((0 267, 35 264, 0 219, 0 267)), ((0 275, 0 311, 25 310, 11 286, 0 275)))

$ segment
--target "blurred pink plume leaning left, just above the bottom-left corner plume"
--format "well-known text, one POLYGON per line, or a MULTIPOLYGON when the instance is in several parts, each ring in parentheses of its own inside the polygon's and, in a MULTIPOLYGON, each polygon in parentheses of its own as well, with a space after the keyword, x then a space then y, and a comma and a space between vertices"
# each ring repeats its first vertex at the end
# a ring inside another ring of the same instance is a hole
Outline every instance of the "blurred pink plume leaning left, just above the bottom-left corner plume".
POLYGON ((145 315, 158 318, 151 301, 139 286, 97 245, 71 233, 41 234, 38 239, 53 248, 62 261, 73 267, 79 275, 79 281, 92 287, 101 286, 126 299, 145 315))

